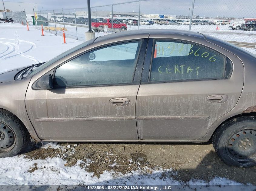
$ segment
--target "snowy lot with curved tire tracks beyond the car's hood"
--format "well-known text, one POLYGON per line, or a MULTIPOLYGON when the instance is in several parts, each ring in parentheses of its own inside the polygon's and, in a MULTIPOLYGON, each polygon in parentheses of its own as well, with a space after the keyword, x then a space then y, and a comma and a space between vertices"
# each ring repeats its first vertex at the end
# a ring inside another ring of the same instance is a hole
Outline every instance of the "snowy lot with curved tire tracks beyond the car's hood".
POLYGON ((46 62, 82 41, 66 39, 50 33, 42 33, 34 26, 18 23, 0 23, 0 72, 12 68, 46 62))

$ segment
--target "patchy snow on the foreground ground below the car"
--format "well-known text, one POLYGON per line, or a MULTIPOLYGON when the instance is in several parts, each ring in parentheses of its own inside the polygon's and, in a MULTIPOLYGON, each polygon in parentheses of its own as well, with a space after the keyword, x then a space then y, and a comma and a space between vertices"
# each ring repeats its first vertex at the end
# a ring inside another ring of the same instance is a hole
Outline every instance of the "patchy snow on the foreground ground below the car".
MULTIPOLYGON (((44 142, 44 144, 43 148, 45 149, 64 149, 64 147, 57 145, 57 142, 47 144, 44 142)), ((148 167, 126 174, 105 171, 98 178, 93 176, 93 173, 86 171, 86 166, 90 162, 89 160, 78 160, 75 165, 66 167, 66 161, 58 157, 46 158, 44 160, 27 159, 22 154, 10 158, 0 158, 0 164, 4 164, 0 165, 0 171, 2 172, 0 175, 0 185, 175 185, 179 186, 178 190, 193 190, 198 188, 196 185, 201 185, 206 190, 215 190, 216 187, 211 186, 218 186, 218 190, 225 191, 244 188, 244 185, 241 183, 219 177, 213 178, 208 183, 197 179, 185 183, 174 180, 171 177, 175 176, 172 169, 150 169, 152 173, 147 173, 148 167), (80 166, 81 164, 83 164, 82 167, 80 166), (171 176, 164 178, 163 173, 171 176), (222 188, 219 185, 222 185, 222 188), (225 188, 223 185, 233 185, 235 187, 225 188)), ((130 159, 130 162, 134 161, 130 159)), ((250 188, 256 188, 256 186, 250 188)))

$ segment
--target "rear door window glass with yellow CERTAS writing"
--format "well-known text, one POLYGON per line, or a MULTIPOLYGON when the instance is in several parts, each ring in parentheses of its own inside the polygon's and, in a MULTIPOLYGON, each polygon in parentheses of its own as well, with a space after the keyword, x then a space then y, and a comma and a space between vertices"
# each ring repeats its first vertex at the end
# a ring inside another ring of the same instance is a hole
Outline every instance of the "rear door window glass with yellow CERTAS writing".
POLYGON ((159 40, 155 43, 150 81, 219 79, 231 75, 231 62, 197 44, 159 40))

